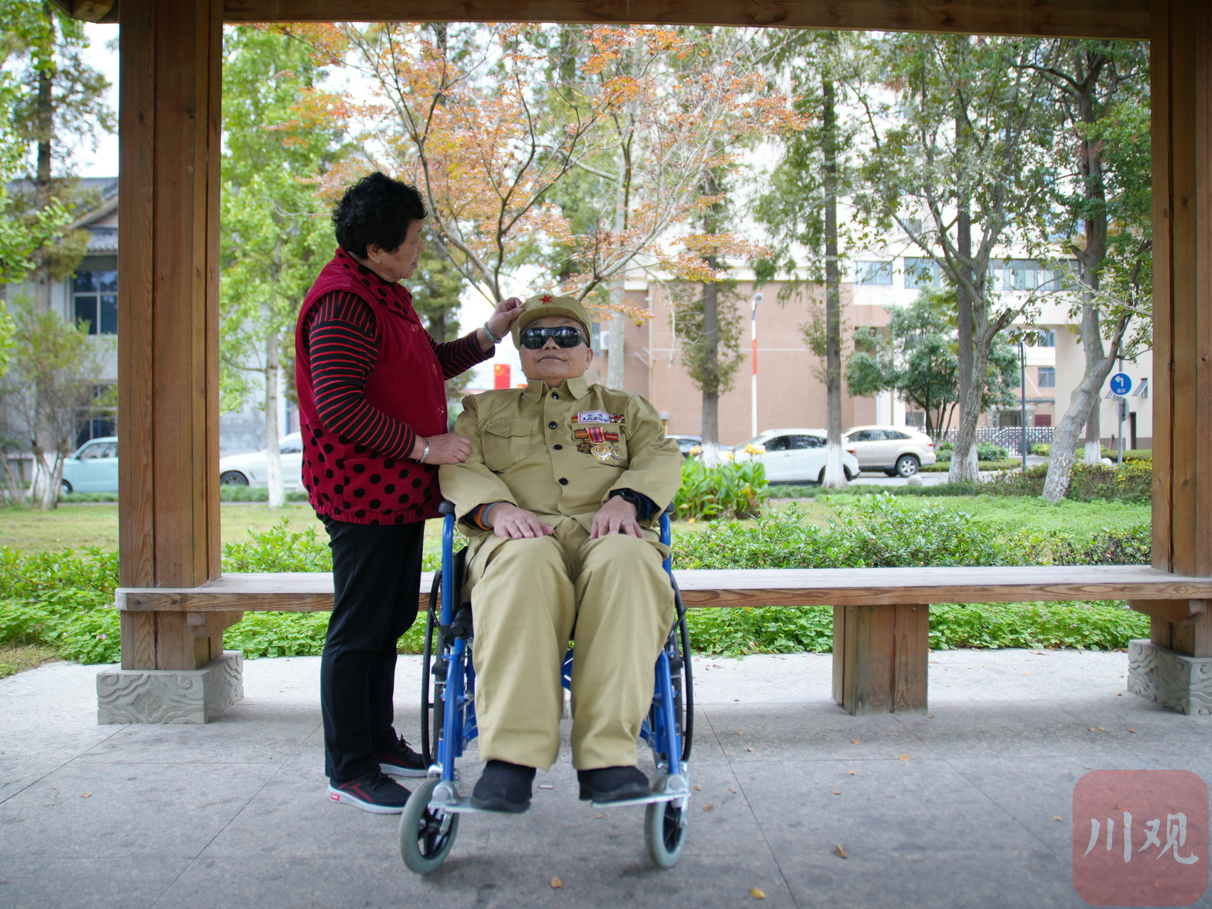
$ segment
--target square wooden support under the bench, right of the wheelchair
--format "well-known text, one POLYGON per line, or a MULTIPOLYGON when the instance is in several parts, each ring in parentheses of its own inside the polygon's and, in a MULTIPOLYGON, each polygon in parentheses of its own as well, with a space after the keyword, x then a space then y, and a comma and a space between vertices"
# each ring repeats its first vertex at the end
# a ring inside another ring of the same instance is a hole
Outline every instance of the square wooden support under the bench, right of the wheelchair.
POLYGON ((930 606, 834 606, 834 701, 856 716, 926 713, 930 606))

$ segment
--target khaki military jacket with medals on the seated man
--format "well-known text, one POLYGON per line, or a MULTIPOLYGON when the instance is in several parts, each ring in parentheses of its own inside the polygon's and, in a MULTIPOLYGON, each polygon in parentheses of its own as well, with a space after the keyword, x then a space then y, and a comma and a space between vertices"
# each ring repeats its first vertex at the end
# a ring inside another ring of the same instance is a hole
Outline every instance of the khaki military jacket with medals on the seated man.
MULTIPOLYGON (((469 585, 504 542, 463 521, 478 505, 510 502, 548 526, 573 520, 588 531, 613 490, 633 490, 656 503, 654 525, 681 481, 681 453, 656 408, 583 377, 554 390, 531 382, 470 395, 454 431, 471 440, 471 453, 462 464, 442 464, 439 478, 470 541, 469 585)), ((651 528, 645 536, 656 541, 651 528)))

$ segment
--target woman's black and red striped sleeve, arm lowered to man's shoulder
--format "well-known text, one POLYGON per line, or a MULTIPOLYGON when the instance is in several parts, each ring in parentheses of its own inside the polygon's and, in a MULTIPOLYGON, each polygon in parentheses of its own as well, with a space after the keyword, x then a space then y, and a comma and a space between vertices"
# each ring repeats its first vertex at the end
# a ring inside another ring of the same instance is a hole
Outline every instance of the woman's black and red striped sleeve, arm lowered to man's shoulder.
POLYGON ((375 313, 353 293, 328 293, 316 302, 304 326, 315 408, 338 435, 385 457, 406 458, 416 431, 366 400, 378 356, 375 328, 375 313))

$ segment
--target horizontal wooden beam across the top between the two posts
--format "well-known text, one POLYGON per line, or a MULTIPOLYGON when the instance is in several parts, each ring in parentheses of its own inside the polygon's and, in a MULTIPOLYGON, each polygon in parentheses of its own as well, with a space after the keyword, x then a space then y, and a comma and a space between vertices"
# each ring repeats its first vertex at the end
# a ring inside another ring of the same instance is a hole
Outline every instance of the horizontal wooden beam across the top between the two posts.
POLYGON ((224 0, 225 22, 634 22, 1149 38, 1150 0, 224 0))

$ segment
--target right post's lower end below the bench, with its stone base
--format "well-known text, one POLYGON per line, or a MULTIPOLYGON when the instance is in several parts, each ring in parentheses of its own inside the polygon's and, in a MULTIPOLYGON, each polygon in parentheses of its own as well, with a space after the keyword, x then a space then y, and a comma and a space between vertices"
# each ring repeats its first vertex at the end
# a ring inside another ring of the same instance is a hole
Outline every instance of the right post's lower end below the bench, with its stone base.
POLYGON ((1180 714, 1212 716, 1212 618, 1205 600, 1134 600, 1149 640, 1128 641, 1128 691, 1180 714))

